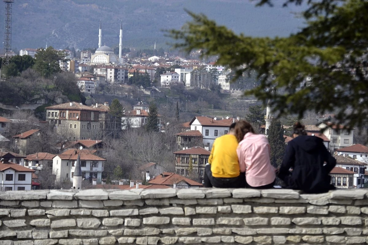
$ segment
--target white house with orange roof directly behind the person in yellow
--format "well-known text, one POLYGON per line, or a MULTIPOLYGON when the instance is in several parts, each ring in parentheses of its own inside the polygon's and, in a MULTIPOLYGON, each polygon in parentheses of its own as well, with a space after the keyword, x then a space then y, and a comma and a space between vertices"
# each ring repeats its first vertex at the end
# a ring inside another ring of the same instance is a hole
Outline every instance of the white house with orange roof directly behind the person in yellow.
POLYGON ((220 137, 229 132, 231 123, 216 120, 216 118, 208 118, 206 116, 196 116, 189 123, 190 130, 198 130, 203 135, 203 145, 210 150, 213 142, 217 137, 220 137))

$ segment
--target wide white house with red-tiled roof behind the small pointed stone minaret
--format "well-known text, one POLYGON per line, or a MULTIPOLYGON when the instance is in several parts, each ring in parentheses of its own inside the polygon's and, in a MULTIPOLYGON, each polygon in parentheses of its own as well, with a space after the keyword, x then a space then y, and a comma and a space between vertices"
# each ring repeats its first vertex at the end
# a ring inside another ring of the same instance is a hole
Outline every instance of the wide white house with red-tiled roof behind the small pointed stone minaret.
POLYGON ((79 153, 81 159, 82 178, 101 180, 103 165, 105 164, 106 159, 93 155, 95 152, 96 150, 69 149, 64 151, 62 154, 56 155, 53 158, 52 164, 53 174, 56 176, 55 181, 60 183, 64 179, 70 181, 73 179, 74 166, 79 153))

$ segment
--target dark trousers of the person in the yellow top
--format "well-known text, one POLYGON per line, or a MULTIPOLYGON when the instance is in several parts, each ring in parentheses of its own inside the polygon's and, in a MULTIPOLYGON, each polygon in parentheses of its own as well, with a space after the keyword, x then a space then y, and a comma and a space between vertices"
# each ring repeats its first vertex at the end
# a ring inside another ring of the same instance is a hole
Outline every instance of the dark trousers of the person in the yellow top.
POLYGON ((204 182, 204 186, 209 188, 244 188, 245 175, 244 173, 240 173, 239 176, 233 178, 213 177, 211 172, 211 165, 208 164, 205 166, 204 182))

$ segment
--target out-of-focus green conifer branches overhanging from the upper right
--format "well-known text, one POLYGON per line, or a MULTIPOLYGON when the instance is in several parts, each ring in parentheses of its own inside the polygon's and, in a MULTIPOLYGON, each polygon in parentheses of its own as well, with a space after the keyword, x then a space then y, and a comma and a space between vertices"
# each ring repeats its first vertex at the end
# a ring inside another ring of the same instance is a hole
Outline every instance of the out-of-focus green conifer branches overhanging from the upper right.
MULTIPOLYGON (((368 124, 368 1, 284 0, 307 4, 307 26, 289 37, 248 37, 216 25, 205 15, 189 12, 193 20, 168 35, 176 48, 203 56, 217 55, 239 77, 255 70, 260 85, 247 91, 279 115, 334 111, 337 123, 368 124), (364 68, 365 67, 365 68, 364 68)), ((259 5, 272 4, 271 0, 259 5)), ((275 10, 277 11, 277 10, 275 10)))

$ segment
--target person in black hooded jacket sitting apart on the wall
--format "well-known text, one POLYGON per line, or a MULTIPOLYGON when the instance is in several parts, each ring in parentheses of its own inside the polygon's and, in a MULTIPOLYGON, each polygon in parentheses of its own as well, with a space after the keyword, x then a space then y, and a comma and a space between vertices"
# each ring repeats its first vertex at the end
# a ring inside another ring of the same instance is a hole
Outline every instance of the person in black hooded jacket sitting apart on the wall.
POLYGON ((282 165, 276 170, 277 176, 284 181, 284 188, 307 193, 335 189, 330 184, 329 173, 335 167, 336 159, 321 138, 308 136, 304 128, 300 122, 294 125, 294 139, 287 144, 282 165))

